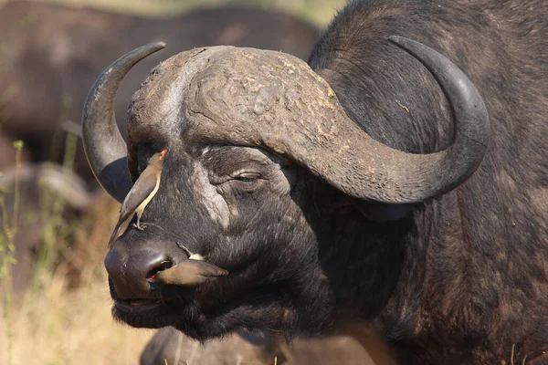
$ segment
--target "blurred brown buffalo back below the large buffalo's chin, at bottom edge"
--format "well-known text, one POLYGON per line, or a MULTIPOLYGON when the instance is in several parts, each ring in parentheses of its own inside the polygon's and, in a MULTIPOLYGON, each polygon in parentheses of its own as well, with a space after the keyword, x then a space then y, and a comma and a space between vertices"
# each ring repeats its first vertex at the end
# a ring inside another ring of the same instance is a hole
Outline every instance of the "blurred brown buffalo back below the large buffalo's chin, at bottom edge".
POLYGON ((395 365, 384 340, 373 332, 358 341, 348 336, 295 339, 274 335, 263 341, 235 334, 203 344, 172 327, 161 328, 141 354, 141 365, 395 365))

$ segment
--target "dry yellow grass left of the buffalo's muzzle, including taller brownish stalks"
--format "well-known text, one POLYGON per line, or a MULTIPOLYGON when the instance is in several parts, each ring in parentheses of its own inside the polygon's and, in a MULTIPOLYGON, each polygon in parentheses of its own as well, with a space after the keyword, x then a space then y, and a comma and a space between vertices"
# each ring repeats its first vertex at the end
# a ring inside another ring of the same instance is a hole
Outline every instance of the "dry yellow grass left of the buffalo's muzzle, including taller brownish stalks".
MULTIPOLYGON (((114 210, 112 204, 101 204, 99 211, 102 214, 85 218, 96 224, 87 230, 80 226, 75 235, 79 238, 73 250, 79 255, 66 253, 55 270, 38 269, 32 287, 12 301, 8 321, 0 318, 0 364, 138 363, 153 331, 129 328, 111 318, 102 257, 114 210), (70 281, 75 265, 83 267, 76 289, 70 281)), ((2 302, 2 313, 4 306, 2 302)))

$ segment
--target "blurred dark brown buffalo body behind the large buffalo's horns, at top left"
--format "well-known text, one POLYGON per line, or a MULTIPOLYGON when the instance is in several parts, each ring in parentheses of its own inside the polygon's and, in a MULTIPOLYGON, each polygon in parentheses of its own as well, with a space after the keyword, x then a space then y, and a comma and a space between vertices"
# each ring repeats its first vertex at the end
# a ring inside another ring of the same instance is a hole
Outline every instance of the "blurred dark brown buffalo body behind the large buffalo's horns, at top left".
MULTIPOLYGON (((26 142, 28 160, 62 161, 61 122, 79 120, 90 85, 112 59, 163 40, 174 55, 198 46, 258 47, 308 57, 319 31, 292 16, 252 8, 199 10, 171 18, 125 16, 36 2, 0 8, 0 169, 15 161, 11 143, 26 142)), ((128 101, 158 62, 151 57, 124 80, 116 113, 125 130, 128 101)), ((83 151, 76 170, 92 174, 83 151)))

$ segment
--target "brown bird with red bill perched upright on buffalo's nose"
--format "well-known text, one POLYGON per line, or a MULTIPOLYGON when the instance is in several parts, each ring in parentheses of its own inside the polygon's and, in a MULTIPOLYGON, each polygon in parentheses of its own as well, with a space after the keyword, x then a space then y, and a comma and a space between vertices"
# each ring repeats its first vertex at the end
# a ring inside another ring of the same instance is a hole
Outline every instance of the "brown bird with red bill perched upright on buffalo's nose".
POLYGON ((118 223, 114 227, 109 245, 118 238, 121 226, 132 220, 133 214, 137 214, 137 229, 142 230, 141 215, 144 208, 151 202, 158 188, 162 176, 163 157, 167 150, 154 153, 148 162, 148 166, 141 173, 137 181, 133 184, 132 190, 128 193, 121 203, 120 216, 118 223))

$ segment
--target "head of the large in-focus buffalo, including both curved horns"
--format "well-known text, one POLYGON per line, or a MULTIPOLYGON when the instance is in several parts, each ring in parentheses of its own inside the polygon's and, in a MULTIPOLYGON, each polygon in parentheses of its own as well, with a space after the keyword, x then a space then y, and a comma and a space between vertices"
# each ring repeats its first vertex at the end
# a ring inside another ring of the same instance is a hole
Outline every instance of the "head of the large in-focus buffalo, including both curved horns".
MULTIPOLYGON (((132 99, 126 146, 113 117, 116 90, 163 44, 114 62, 83 114, 97 179, 121 202, 154 152, 169 155, 142 215, 146 229, 130 225, 105 259, 113 315, 199 339, 236 328, 315 332, 351 300, 336 279, 348 255, 359 253, 371 267, 364 287, 391 282, 397 273, 378 260, 401 255, 360 233, 463 183, 483 158, 488 132, 483 101, 455 65, 409 39, 392 41, 419 59, 447 95, 456 137, 445 151, 412 154, 374 141, 306 63, 237 47, 187 51, 153 69, 132 99), (364 243, 353 253, 355 240, 364 243), (344 258, 337 250, 345 245, 344 258), (197 287, 150 279, 189 252, 229 275, 197 287)), ((375 293, 377 304, 386 291, 375 293)))

